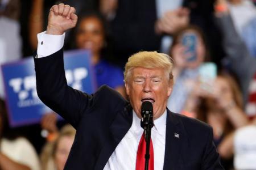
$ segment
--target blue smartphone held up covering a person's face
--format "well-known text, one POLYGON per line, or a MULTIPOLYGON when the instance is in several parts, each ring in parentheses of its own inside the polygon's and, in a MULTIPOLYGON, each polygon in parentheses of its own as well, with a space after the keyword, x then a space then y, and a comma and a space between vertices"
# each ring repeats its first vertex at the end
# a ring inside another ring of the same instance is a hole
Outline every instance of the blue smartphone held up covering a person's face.
POLYGON ((197 36, 195 33, 184 33, 181 40, 183 46, 185 46, 184 54, 188 56, 187 61, 192 62, 196 60, 196 44, 197 36))

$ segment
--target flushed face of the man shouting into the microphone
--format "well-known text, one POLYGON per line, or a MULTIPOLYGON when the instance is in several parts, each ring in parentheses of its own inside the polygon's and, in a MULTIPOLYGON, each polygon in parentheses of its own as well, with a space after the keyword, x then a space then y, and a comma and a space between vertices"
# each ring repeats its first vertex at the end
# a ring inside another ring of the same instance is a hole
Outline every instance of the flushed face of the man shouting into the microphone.
POLYGON ((153 104, 155 120, 166 109, 167 99, 172 91, 172 83, 168 81, 164 69, 135 67, 131 70, 130 79, 125 83, 125 88, 137 116, 141 118, 143 101, 150 101, 153 104))

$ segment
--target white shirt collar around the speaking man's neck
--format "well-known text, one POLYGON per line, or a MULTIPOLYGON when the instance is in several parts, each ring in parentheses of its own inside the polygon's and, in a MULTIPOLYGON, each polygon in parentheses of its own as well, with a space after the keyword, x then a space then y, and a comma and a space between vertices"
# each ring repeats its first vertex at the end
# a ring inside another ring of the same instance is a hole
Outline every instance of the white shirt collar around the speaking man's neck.
MULTIPOLYGON (((165 135, 166 133, 166 117, 167 117, 167 111, 165 110, 164 113, 154 120, 154 127, 155 130, 160 134, 160 135, 165 135)), ((133 110, 133 124, 131 125, 131 129, 135 131, 135 133, 139 133, 140 131, 143 131, 141 128, 141 119, 137 116, 137 114, 133 110)))

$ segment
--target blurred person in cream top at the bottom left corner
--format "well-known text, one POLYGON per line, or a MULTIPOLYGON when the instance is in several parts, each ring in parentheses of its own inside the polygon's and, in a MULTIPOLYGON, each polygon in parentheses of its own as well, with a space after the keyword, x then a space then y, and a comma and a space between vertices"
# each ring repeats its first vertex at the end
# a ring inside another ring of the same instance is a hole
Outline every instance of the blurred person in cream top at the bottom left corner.
POLYGON ((0 169, 40 169, 34 147, 26 138, 17 137, 10 129, 3 100, 0 100, 0 142, 0 169))

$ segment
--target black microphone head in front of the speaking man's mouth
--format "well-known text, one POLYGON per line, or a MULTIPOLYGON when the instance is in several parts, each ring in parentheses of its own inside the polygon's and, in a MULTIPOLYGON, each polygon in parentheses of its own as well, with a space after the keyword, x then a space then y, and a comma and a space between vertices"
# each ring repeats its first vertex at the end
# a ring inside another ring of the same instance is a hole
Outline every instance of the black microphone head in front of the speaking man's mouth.
POLYGON ((141 105, 141 127, 145 128, 153 127, 153 105, 150 101, 144 101, 141 105))

